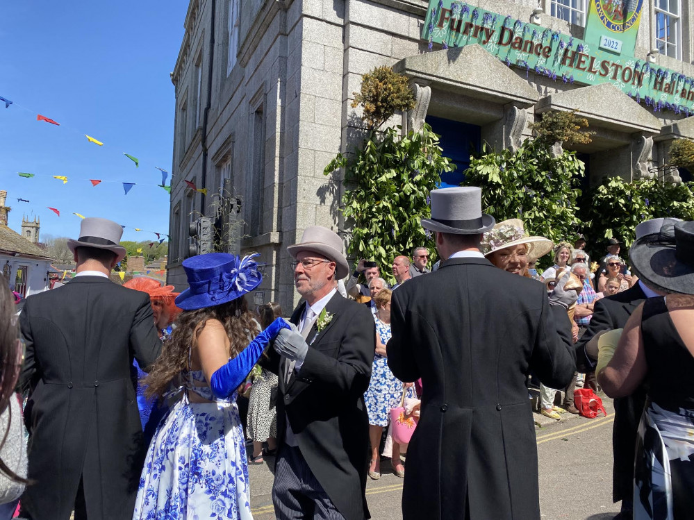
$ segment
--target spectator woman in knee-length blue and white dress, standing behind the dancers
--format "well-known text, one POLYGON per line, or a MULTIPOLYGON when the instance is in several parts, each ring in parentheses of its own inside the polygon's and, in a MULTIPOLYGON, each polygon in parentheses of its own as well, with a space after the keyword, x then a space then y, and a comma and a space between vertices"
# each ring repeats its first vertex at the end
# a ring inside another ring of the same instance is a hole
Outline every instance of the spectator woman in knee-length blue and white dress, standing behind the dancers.
MULTIPOLYGON (((371 464, 369 476, 377 480, 381 478, 381 458, 379 446, 383 428, 390 421, 390 409, 400 405, 402 400, 403 383, 393 376, 388 368, 386 344, 390 339, 390 295, 392 292, 383 289, 374 296, 378 312, 374 314, 376 321, 376 352, 371 369, 371 381, 364 394, 366 410, 369 414, 369 437, 371 439, 371 464)), ((393 442, 393 458, 390 460, 393 471, 399 477, 405 476, 405 469, 400 461, 400 446, 393 442)))

